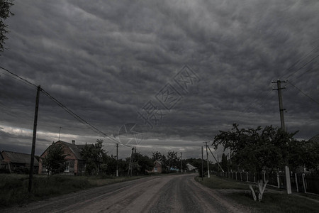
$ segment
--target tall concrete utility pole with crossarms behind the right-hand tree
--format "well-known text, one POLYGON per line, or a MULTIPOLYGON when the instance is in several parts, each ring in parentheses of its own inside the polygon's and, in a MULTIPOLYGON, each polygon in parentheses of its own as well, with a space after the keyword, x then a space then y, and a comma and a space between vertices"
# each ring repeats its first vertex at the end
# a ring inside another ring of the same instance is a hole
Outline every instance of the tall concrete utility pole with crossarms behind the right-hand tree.
MULTIPOLYGON (((284 120, 284 110, 286 110, 286 109, 284 109, 283 104, 282 104, 281 89, 286 89, 286 87, 281 88, 281 83, 285 83, 285 82, 286 81, 281 81, 281 80, 277 80, 276 82, 272 82, 273 84, 274 83, 277 84, 277 88, 273 89, 273 90, 278 91, 280 123, 281 123, 281 129, 283 131, 286 131, 285 120, 284 120)), ((290 170, 289 170, 288 162, 287 162, 287 165, 285 166, 285 175, 286 175, 287 194, 291 194, 290 170)))

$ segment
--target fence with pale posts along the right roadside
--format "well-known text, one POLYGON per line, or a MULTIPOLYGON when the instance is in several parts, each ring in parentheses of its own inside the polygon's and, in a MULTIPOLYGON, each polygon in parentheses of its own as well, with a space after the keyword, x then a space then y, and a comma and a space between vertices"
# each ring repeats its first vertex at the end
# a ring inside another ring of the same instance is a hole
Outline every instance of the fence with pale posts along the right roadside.
MULTIPOLYGON (((255 173, 247 172, 218 172, 217 176, 223 178, 230 178, 243 182, 257 182, 258 175, 255 173)), ((286 189, 286 176, 285 173, 276 173, 268 175, 262 173, 262 180, 268 185, 279 189, 286 189)), ((291 173, 291 190, 293 192, 302 192, 319 195, 319 174, 318 173, 291 173)))

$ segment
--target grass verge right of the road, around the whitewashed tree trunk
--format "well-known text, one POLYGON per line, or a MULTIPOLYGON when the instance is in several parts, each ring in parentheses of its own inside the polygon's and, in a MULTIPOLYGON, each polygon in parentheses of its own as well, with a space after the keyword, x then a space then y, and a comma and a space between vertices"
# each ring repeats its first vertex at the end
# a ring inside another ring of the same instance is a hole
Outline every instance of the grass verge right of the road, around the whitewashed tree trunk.
POLYGON ((203 181, 200 177, 195 179, 206 187, 216 190, 242 190, 242 192, 225 193, 225 196, 245 207, 254 209, 256 212, 318 212, 319 209, 318 197, 316 196, 286 195, 283 191, 272 190, 264 192, 262 202, 255 202, 252 200, 248 184, 245 182, 219 178, 216 175, 211 175, 209 179, 204 178, 203 181))

